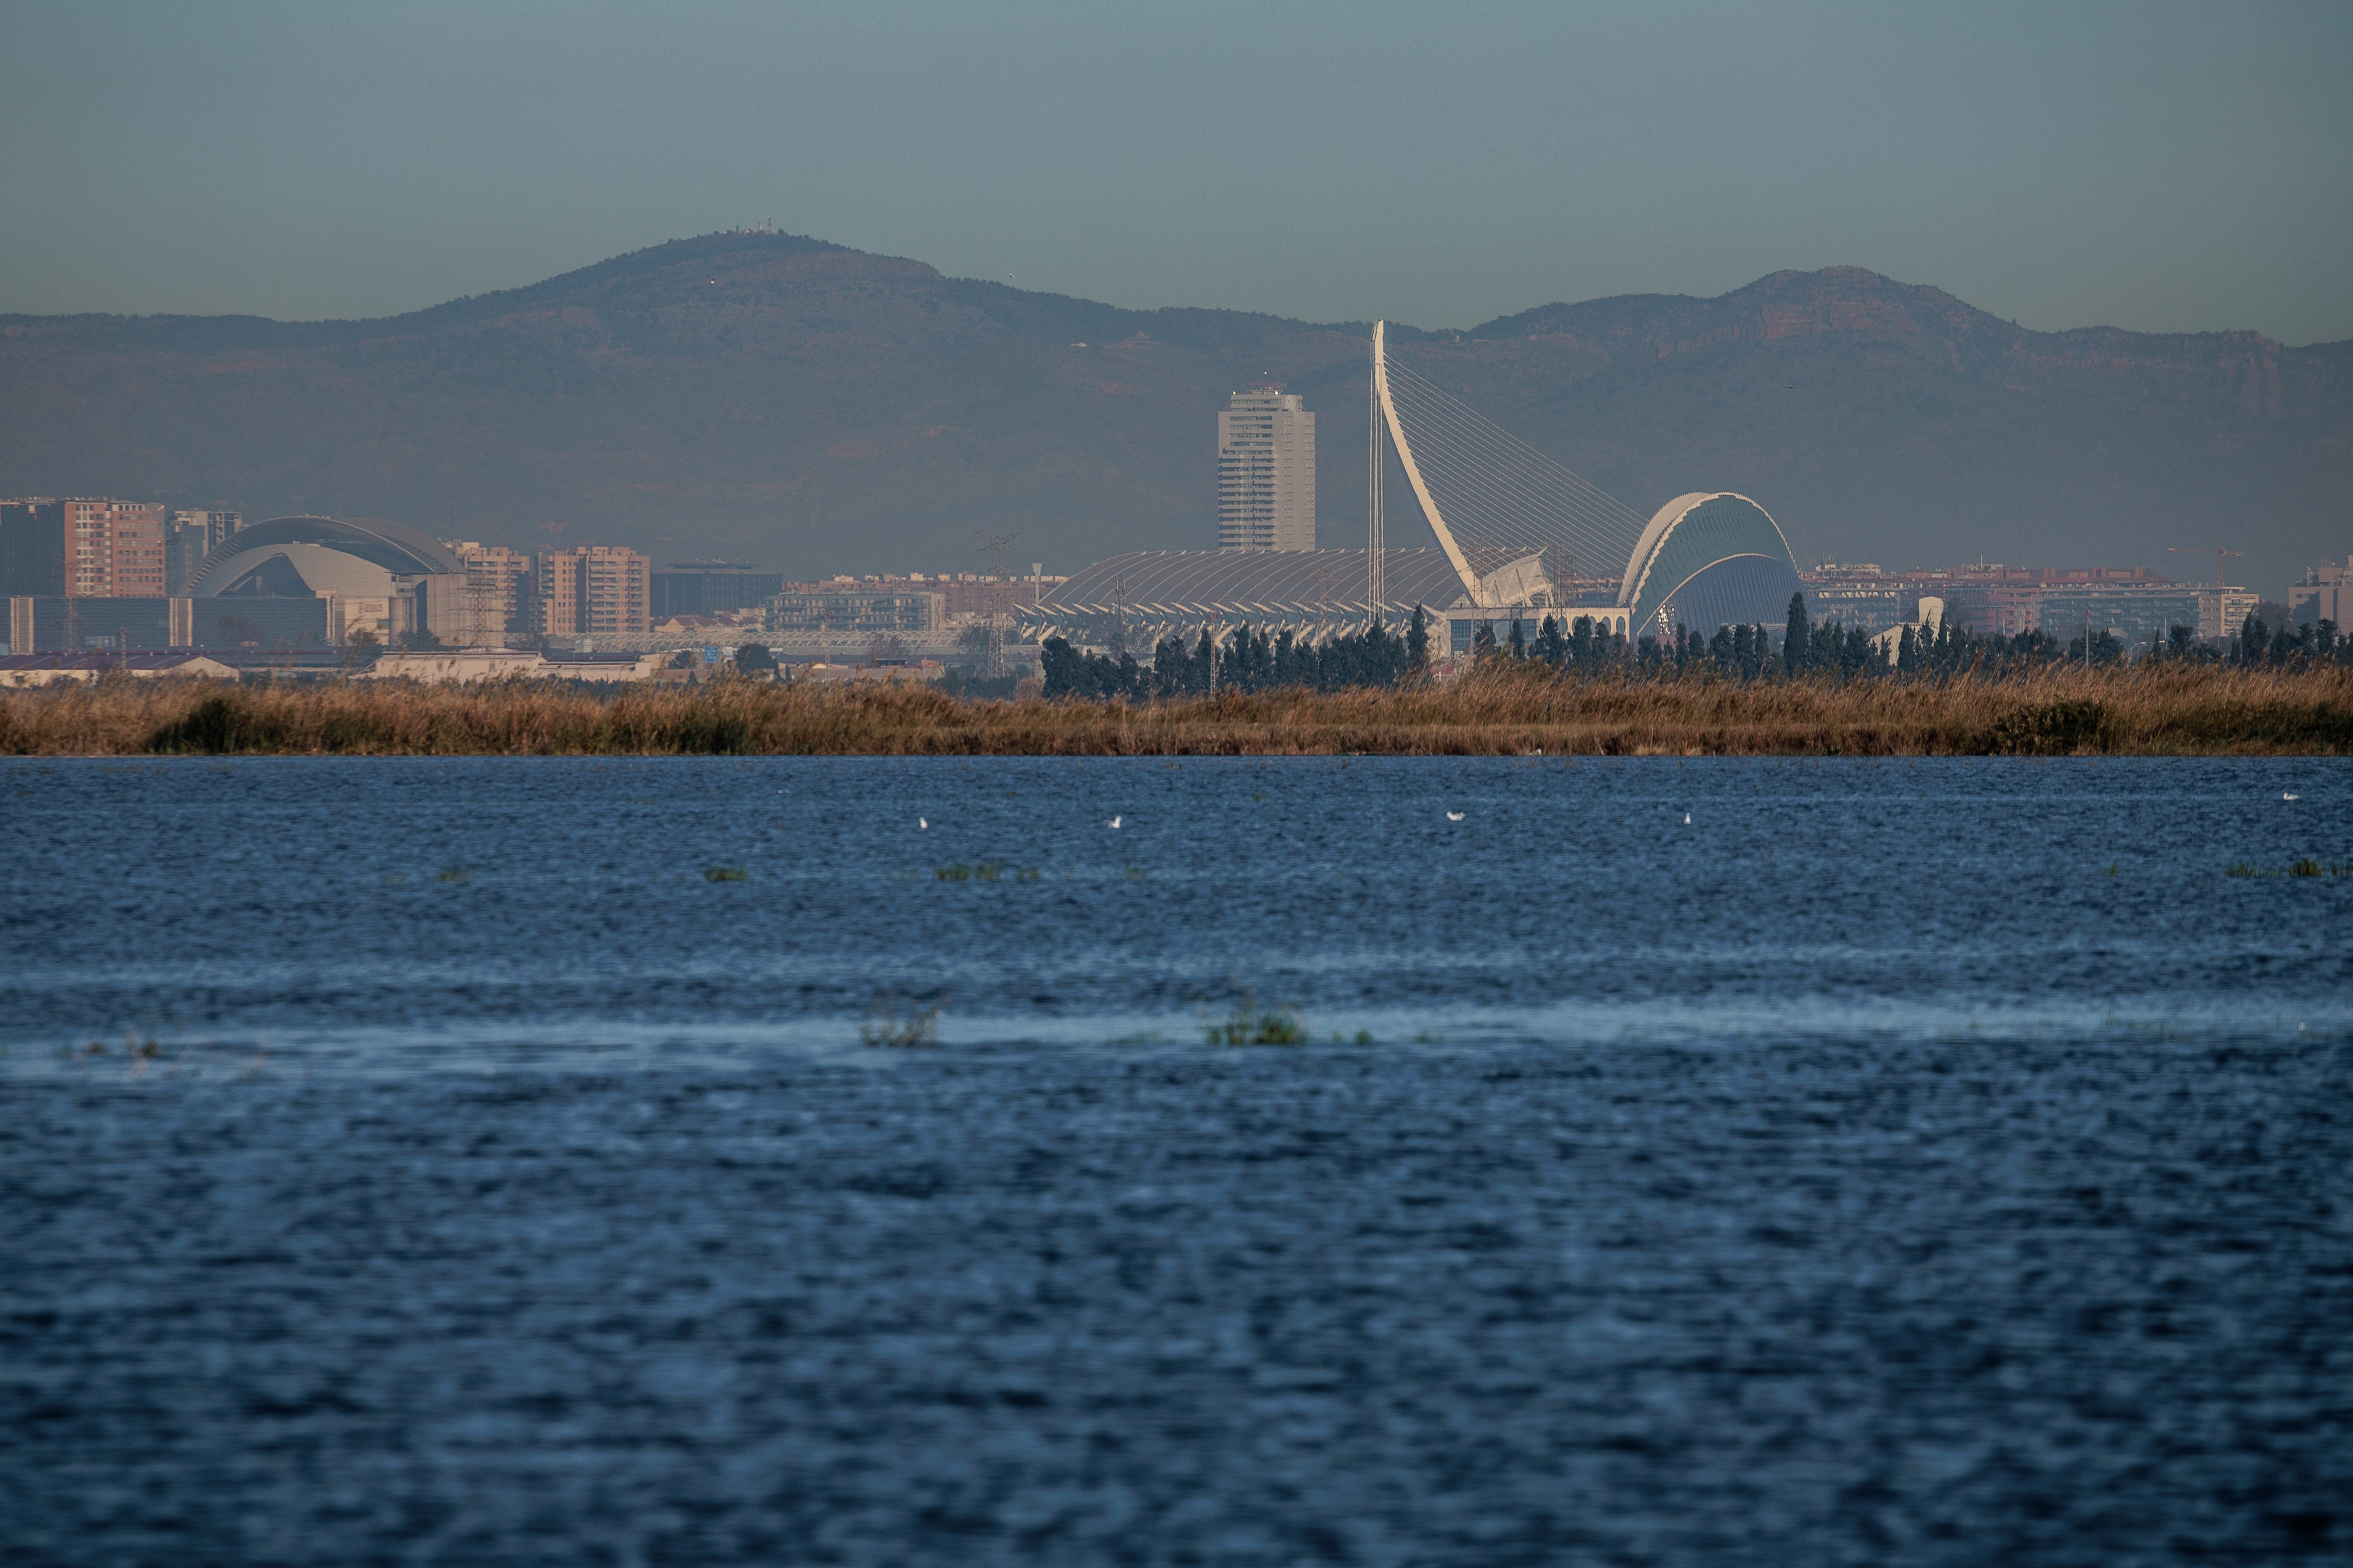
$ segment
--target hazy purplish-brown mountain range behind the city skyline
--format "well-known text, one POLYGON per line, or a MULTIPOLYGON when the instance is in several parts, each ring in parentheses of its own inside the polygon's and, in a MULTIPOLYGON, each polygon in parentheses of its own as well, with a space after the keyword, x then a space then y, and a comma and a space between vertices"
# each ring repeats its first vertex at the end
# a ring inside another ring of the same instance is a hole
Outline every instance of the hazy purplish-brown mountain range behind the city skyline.
MULTIPOLYGON (((1809 559, 2198 574, 2165 545, 2228 541, 2233 574, 2278 592, 2353 550, 2353 343, 2026 331, 1859 268, 1391 331, 1635 510, 1739 489, 1809 559)), ((1367 336, 769 233, 372 322, 0 315, 0 494, 791 574, 976 569, 979 531, 1019 531, 1019 562, 1071 571, 1207 548, 1217 409, 1275 378, 1322 414, 1325 543, 1360 545, 1367 336)), ((1398 522, 1391 541, 1419 543, 1398 522)))

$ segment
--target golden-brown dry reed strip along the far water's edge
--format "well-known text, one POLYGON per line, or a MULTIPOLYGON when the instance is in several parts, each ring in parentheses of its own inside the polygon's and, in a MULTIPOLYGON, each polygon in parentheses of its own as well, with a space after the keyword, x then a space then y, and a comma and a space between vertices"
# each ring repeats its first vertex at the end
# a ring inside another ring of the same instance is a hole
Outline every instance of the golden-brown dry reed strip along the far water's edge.
POLYGON ((2045 670, 1946 682, 1584 682, 960 703, 927 689, 108 679, 0 693, 0 752, 200 755, 2344 755, 2353 672, 2045 670))

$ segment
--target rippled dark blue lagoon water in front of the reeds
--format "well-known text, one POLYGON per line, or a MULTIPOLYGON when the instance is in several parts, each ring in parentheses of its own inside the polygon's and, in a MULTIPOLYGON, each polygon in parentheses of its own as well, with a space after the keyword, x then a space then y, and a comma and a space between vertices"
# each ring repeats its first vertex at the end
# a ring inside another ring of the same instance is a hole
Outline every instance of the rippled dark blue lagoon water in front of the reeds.
POLYGON ((2353 1561, 2346 863, 2327 759, 5 762, 0 1549, 2353 1561))

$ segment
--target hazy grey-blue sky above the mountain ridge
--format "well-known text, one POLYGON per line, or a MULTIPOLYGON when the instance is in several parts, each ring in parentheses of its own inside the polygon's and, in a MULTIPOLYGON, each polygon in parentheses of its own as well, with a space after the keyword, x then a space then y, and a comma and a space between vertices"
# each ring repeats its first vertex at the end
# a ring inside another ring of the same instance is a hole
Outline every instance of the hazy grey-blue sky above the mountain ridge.
POLYGON ((2353 339, 2353 5, 16 5, 0 310, 388 315, 774 219, 1468 327, 1859 263, 2353 339))

